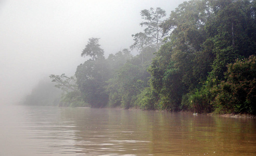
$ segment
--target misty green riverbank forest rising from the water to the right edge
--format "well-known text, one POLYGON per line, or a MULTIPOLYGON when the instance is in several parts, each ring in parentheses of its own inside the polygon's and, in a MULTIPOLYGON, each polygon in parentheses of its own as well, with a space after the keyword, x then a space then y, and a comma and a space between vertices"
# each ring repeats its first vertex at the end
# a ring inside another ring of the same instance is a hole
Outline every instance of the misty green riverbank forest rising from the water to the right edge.
POLYGON ((93 108, 256 113, 256 2, 189 1, 140 12, 131 49, 104 57, 89 38, 74 77, 50 75, 66 101, 93 108), (73 80, 72 88, 69 81, 73 80), (72 95, 72 96, 71 96, 72 95))

